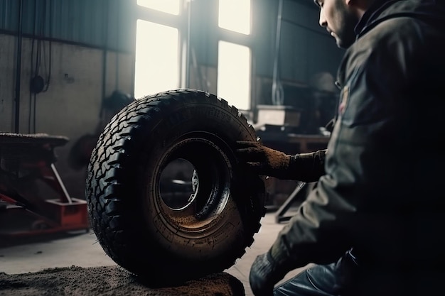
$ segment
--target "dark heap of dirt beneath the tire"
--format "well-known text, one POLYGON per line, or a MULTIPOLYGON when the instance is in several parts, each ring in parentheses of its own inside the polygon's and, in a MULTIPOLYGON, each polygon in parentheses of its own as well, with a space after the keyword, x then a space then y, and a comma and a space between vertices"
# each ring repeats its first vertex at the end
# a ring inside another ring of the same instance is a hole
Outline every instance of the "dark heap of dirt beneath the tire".
POLYGON ((237 278, 215 273, 176 287, 148 287, 119 266, 49 268, 37 273, 0 273, 7 296, 244 296, 237 278))

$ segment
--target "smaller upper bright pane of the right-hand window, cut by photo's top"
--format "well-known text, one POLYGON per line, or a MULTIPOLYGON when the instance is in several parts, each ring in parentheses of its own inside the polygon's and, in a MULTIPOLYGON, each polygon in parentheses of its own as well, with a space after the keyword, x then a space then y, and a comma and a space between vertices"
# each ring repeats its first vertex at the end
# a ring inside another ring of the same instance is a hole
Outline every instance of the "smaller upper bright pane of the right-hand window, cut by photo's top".
POLYGON ((250 0, 220 0, 218 25, 238 33, 250 34, 250 0))

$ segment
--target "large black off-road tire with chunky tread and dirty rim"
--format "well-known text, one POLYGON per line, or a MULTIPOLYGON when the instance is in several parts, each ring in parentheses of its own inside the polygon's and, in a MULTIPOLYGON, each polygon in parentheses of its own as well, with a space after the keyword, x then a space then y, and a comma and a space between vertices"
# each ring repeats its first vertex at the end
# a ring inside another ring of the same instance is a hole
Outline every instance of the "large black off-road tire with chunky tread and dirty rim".
POLYGON ((242 172, 233 152, 235 141, 256 138, 240 111, 207 92, 172 90, 122 109, 88 165, 88 212, 107 255, 158 284, 230 268, 265 213, 264 180, 242 172), (199 180, 182 206, 161 196, 163 171, 176 160, 199 180))

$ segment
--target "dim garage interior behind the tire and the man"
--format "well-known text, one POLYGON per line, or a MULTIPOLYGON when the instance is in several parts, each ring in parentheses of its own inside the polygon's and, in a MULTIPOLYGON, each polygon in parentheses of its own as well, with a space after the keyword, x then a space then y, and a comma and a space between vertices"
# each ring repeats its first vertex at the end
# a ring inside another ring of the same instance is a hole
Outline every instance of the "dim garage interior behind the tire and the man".
MULTIPOLYGON (((0 295, 252 295, 250 264, 289 219, 301 183, 269 178, 262 227, 235 265, 156 288, 97 243, 87 165, 115 114, 172 89, 225 99, 271 148, 326 148, 343 50, 318 13, 308 0, 1 1, 0 295)), ((190 194, 182 169, 171 168, 173 199, 190 194)))

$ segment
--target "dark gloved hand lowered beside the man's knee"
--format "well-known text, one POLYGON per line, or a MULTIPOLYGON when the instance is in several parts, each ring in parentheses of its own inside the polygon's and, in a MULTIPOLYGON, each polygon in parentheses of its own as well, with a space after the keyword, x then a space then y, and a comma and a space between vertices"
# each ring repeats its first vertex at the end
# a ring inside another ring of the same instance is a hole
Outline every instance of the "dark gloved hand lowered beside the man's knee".
POLYGON ((269 252, 257 256, 250 268, 249 282, 255 296, 273 296, 274 285, 284 278, 269 252))

